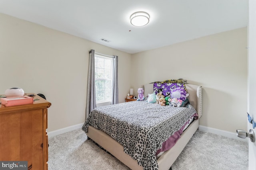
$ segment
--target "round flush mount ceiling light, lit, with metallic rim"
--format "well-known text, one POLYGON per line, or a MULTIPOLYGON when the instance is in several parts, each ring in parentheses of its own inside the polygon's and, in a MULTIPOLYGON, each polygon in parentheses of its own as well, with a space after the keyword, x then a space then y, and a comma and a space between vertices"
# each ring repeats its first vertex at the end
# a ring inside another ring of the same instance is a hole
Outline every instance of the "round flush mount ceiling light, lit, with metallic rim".
POLYGON ((149 23, 149 14, 146 12, 135 12, 130 16, 131 24, 141 27, 149 23))

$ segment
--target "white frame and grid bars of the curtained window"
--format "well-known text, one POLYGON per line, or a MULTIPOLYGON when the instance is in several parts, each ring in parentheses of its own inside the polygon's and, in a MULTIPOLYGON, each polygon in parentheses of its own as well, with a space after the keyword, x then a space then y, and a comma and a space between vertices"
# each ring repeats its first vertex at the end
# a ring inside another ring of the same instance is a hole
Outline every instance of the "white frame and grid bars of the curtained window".
MULTIPOLYGON (((110 65, 110 79, 108 78, 96 78, 96 75, 95 75, 95 84, 96 84, 96 81, 97 80, 103 80, 103 81, 110 81, 110 99, 109 100, 100 100, 100 101, 97 101, 96 100, 96 104, 103 104, 103 105, 108 105, 108 104, 111 104, 111 101, 112 101, 112 72, 113 72, 113 58, 112 57, 105 57, 105 56, 102 56, 102 55, 94 55, 94 59, 97 60, 97 58, 102 58, 102 59, 107 59, 107 60, 110 60, 111 61, 111 65, 110 65)), ((95 65, 95 74, 96 74, 96 69, 97 69, 97 65, 95 65)), ((105 69, 105 67, 103 68, 105 69)), ((97 89, 96 89, 96 99, 97 99, 97 89)))

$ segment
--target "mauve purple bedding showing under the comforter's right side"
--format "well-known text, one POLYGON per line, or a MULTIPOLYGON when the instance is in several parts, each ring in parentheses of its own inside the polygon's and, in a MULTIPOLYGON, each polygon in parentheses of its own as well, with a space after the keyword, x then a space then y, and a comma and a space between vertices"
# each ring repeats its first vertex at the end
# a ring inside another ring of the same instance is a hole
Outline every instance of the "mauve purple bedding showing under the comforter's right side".
MULTIPOLYGON (((192 117, 194 117, 194 119, 198 119, 198 114, 195 113, 192 117)), ((160 152, 164 152, 166 150, 171 149, 176 144, 178 139, 180 139, 180 135, 183 133, 184 127, 186 127, 186 125, 188 125, 189 123, 190 121, 187 121, 185 125, 183 125, 180 128, 180 130, 176 131, 172 136, 170 136, 166 141, 164 141, 164 143, 162 144, 162 148, 156 151, 156 155, 158 155, 160 152)))

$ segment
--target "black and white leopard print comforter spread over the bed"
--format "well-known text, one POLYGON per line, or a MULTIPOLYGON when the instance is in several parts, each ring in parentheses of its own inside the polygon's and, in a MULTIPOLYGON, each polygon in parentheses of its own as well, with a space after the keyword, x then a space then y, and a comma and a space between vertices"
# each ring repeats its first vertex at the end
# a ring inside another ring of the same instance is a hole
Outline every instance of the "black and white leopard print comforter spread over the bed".
POLYGON ((196 113, 186 107, 160 106, 148 102, 126 102, 97 107, 91 111, 82 130, 88 126, 104 131, 124 147, 144 170, 158 170, 156 151, 196 113))

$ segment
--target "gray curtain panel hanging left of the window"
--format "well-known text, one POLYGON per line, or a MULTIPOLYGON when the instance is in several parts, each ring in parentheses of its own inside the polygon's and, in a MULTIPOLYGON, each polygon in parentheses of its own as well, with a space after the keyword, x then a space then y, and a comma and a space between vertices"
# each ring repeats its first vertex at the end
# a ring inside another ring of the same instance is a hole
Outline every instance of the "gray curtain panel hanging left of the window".
POLYGON ((89 51, 89 67, 88 67, 88 81, 87 81, 87 101, 86 101, 86 117, 90 111, 96 108, 96 90, 95 90, 95 66, 94 66, 95 50, 89 51))

